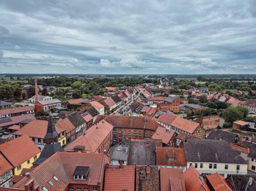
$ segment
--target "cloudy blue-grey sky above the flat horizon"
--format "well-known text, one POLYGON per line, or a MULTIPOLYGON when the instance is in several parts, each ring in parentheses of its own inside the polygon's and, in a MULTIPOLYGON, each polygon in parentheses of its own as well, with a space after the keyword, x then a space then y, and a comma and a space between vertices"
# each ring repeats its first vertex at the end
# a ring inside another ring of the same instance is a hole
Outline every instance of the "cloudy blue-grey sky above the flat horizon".
POLYGON ((256 0, 1 0, 0 73, 256 74, 256 0))

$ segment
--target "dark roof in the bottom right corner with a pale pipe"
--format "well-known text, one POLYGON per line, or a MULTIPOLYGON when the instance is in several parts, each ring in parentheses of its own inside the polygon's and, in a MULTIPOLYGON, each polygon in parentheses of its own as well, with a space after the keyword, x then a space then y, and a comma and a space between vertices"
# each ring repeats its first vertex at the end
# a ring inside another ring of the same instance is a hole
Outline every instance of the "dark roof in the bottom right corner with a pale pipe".
MULTIPOLYGON (((230 185, 230 187, 235 188, 236 191, 244 191, 248 184, 250 177, 254 181, 256 181, 256 175, 231 174, 230 176, 231 177, 228 177, 227 179, 232 178, 233 184, 234 184, 232 186, 230 185)), ((252 181, 252 185, 248 185, 247 191, 255 191, 256 190, 256 183, 254 181, 252 181)))

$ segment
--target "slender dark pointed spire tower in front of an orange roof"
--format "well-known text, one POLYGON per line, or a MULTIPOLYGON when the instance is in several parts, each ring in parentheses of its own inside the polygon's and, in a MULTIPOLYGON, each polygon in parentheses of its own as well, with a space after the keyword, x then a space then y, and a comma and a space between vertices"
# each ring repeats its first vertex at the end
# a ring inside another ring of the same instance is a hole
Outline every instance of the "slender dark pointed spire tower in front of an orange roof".
POLYGON ((53 117, 51 116, 50 112, 47 132, 45 134, 45 143, 54 144, 56 142, 58 142, 58 133, 56 132, 55 125, 53 123, 53 117))

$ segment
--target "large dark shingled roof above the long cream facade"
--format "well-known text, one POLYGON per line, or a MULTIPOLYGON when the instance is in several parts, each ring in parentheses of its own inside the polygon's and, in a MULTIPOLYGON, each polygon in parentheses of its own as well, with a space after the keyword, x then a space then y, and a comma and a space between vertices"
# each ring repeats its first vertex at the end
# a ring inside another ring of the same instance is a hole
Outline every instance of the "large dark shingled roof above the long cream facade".
POLYGON ((247 164, 226 141, 188 139, 184 148, 188 162, 247 164))

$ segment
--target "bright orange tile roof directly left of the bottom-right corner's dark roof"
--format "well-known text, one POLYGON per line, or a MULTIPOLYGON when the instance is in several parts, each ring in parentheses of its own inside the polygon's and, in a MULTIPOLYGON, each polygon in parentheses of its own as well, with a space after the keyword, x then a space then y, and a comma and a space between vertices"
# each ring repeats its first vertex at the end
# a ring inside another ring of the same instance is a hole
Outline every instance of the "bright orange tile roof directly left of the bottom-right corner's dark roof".
POLYGON ((218 173, 206 175, 206 178, 210 182, 215 191, 230 191, 231 187, 226 182, 225 178, 218 173))

